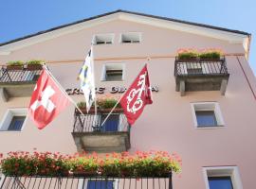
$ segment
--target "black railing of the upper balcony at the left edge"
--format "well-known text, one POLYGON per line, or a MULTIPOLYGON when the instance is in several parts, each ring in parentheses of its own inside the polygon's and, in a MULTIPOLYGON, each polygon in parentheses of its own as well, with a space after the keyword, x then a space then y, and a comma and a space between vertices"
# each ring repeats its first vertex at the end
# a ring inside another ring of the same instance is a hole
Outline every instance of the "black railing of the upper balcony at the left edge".
POLYGON ((0 83, 34 83, 37 81, 42 70, 9 70, 2 67, 0 70, 0 83))

